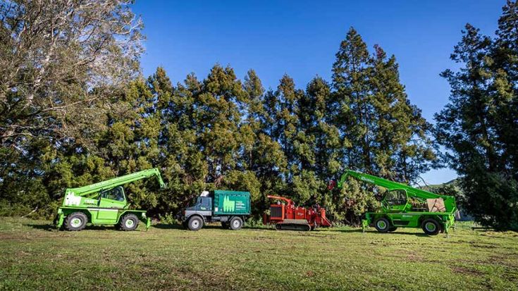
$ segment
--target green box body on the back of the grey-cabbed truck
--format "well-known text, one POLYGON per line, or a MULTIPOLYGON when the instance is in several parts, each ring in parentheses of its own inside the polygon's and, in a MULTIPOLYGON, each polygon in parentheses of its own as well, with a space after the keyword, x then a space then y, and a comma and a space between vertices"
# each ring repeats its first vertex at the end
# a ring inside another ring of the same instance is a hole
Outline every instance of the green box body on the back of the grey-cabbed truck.
POLYGON ((250 192, 214 191, 214 215, 249 215, 250 192))

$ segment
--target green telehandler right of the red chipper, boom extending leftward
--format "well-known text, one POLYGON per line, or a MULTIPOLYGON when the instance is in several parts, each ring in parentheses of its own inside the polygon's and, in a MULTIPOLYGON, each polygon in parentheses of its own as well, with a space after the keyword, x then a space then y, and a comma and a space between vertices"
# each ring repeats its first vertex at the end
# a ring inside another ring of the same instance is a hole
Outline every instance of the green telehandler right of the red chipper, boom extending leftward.
POLYGON ((380 233, 392 232, 397 228, 422 228, 427 235, 437 235, 439 232, 448 233, 455 223, 457 204, 453 196, 435 194, 352 170, 343 173, 338 185, 331 182, 329 189, 335 185, 341 189, 347 177, 386 189, 381 196, 381 208, 365 213, 362 220, 364 229, 374 224, 380 233))

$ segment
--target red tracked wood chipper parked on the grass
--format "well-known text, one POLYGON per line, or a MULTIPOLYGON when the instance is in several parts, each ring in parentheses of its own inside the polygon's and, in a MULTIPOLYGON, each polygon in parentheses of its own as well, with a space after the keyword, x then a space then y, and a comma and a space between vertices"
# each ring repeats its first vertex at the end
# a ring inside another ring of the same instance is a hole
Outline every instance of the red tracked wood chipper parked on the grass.
POLYGON ((305 208, 295 206, 288 198, 271 195, 268 195, 268 198, 276 199, 278 202, 270 204, 270 215, 264 213, 263 223, 273 223, 277 230, 313 230, 331 226, 331 222, 326 218, 326 209, 318 204, 305 208))

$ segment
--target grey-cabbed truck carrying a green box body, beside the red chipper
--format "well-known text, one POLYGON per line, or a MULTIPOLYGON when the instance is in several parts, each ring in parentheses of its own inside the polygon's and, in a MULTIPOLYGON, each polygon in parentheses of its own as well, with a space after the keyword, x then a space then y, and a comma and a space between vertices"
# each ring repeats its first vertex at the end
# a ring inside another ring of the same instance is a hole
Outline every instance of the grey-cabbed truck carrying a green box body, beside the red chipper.
POLYGON ((203 225, 220 222, 223 228, 239 230, 250 216, 250 193, 243 191, 203 191, 181 213, 184 228, 200 230, 203 225))

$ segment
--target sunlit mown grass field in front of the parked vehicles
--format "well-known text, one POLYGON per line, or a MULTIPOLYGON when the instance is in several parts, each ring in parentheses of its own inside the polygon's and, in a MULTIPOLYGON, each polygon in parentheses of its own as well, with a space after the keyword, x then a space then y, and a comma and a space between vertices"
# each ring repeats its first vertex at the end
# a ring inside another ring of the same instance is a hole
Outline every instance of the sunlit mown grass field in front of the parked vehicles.
MULTIPOLYGON (((141 225, 142 226, 142 225, 141 225)), ((518 290, 518 233, 355 228, 124 233, 0 218, 2 290, 518 290)))

